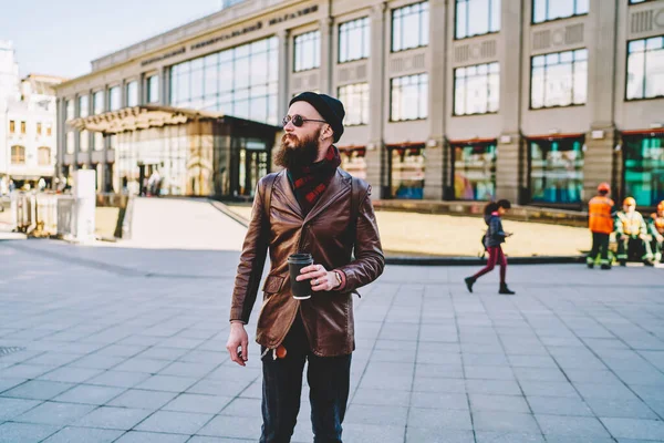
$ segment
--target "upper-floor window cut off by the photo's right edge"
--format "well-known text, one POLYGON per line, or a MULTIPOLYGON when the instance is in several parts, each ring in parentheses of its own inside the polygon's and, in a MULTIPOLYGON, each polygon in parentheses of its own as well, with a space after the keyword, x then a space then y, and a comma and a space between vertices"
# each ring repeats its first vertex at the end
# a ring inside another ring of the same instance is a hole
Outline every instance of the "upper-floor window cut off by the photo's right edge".
POLYGON ((664 35, 627 44, 626 99, 664 96, 664 35))

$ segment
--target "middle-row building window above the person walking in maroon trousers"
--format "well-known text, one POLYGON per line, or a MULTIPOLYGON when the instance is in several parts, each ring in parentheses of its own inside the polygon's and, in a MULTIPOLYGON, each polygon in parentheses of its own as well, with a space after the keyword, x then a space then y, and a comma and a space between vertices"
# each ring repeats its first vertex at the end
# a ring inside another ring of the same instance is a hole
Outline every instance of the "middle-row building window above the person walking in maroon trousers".
POLYGON ((498 63, 454 70, 454 115, 498 112, 499 70, 498 63))

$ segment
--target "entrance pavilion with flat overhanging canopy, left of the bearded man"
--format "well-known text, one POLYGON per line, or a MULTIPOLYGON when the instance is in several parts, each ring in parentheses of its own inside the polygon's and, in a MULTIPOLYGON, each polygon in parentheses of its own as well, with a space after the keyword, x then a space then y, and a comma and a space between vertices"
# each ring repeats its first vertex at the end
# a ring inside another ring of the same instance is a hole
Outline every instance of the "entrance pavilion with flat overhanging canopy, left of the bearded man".
POLYGON ((160 105, 108 111, 68 125, 107 140, 116 192, 239 199, 251 198, 258 179, 270 171, 270 153, 281 131, 220 113, 160 105), (146 190, 148 183, 152 190, 146 190))

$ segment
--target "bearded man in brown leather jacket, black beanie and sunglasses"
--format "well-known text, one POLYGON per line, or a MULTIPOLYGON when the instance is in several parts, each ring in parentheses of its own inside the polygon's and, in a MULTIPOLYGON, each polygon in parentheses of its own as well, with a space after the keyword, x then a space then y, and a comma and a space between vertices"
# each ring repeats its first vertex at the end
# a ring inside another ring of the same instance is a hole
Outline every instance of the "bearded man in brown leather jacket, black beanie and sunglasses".
POLYGON ((352 293, 383 272, 384 256, 371 187, 339 168, 333 143, 343 133, 343 104, 304 92, 289 106, 286 134, 274 156, 284 169, 261 178, 257 187, 226 348, 232 361, 246 365, 245 324, 269 250, 270 272, 256 333, 263 375, 260 442, 290 442, 305 361, 314 441, 341 442, 355 348, 352 293), (310 280, 312 295, 307 300, 290 292, 287 259, 295 253, 313 257, 313 265, 297 277, 310 280))

